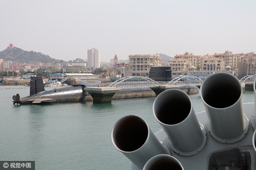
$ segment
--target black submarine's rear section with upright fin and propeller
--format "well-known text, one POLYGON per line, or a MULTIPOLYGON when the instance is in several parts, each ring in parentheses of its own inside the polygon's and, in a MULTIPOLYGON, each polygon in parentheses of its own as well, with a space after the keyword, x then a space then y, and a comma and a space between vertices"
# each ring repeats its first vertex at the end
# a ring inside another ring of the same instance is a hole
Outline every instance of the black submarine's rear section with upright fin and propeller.
POLYGON ((13 95, 13 105, 84 101, 91 97, 84 88, 86 88, 85 85, 73 85, 46 91, 42 77, 31 77, 30 95, 24 98, 20 98, 19 94, 13 95))

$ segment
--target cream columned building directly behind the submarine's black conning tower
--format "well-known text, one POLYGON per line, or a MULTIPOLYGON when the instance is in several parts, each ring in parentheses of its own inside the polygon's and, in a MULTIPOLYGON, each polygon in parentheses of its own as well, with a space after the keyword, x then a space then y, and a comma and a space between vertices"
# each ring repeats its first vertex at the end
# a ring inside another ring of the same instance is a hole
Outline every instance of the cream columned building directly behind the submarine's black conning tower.
POLYGON ((131 54, 129 55, 129 66, 131 75, 148 76, 152 66, 160 66, 162 57, 151 54, 131 54))

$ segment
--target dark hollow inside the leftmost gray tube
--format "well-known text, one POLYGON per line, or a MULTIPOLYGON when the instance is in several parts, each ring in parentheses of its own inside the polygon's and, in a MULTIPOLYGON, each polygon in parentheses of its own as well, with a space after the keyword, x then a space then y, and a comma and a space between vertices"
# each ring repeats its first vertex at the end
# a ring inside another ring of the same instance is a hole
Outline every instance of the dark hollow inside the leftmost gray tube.
POLYGON ((123 151, 139 149, 147 140, 148 127, 143 119, 127 116, 118 121, 113 131, 115 145, 123 151))

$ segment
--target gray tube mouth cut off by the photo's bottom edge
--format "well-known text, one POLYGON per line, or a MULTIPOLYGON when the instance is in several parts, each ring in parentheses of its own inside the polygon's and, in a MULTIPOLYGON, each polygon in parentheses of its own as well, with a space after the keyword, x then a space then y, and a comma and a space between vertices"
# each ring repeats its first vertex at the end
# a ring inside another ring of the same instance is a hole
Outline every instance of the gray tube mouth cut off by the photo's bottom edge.
POLYGON ((161 154, 152 157, 143 167, 143 170, 184 170, 182 164, 171 155, 161 154))

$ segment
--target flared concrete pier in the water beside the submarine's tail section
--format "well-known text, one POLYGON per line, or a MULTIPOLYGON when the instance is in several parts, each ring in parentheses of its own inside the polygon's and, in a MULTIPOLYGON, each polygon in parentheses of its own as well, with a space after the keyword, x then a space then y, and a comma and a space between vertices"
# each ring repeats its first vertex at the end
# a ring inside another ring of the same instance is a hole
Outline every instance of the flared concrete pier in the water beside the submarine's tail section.
POLYGON ((120 88, 112 87, 91 87, 84 88, 93 98, 93 103, 111 103, 111 99, 120 88))

